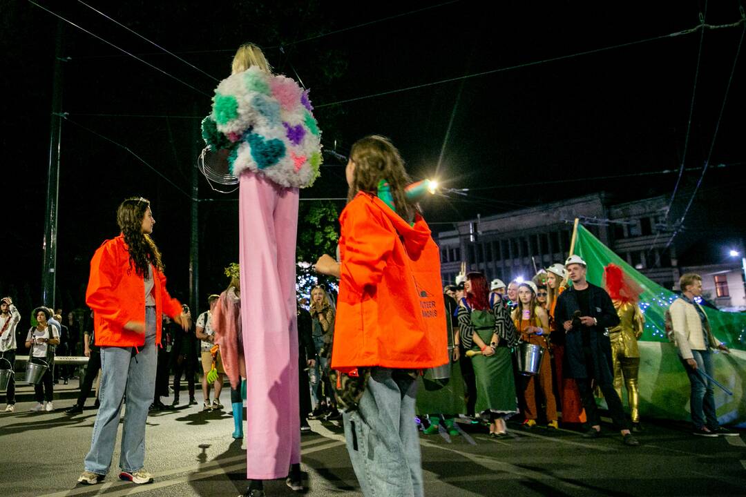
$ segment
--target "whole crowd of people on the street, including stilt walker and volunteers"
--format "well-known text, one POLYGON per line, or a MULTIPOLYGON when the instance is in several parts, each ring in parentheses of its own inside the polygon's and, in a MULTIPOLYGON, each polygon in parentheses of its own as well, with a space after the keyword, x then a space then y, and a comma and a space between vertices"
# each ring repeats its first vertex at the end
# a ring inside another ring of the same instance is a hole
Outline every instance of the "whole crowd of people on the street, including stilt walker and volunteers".
MULTIPOLYGON (((310 430, 308 419, 341 421, 366 496, 424 495, 416 420, 426 434, 442 428, 456 436, 454 420, 463 416, 483 422, 491 437, 506 437, 507 420, 520 413, 526 429, 586 422, 583 436, 595 438, 601 436, 598 388, 623 443, 639 445, 632 433, 642 431, 639 292, 613 266, 606 268, 605 289, 592 285, 577 255, 528 281, 488 285, 474 272, 443 288, 439 250, 407 192, 404 160, 382 136, 352 146, 338 255, 322 255, 313 266, 336 279, 339 292, 318 285, 307 308, 301 306, 295 288, 298 188, 313 183, 321 160, 313 107, 297 83, 272 73, 256 45, 242 45, 231 69, 203 121, 203 136, 208 145, 231 151, 231 170, 239 177, 239 265, 226 269, 228 288, 210 295, 209 310, 192 323, 190 309, 166 290, 149 201, 133 197, 120 204, 119 236, 91 260, 86 303, 94 326, 84 335, 90 362, 81 396, 67 411, 82 411, 101 368, 93 437, 78 483, 106 477, 125 399, 119 478, 154 480, 145 469, 148 411, 166 408, 160 398, 169 396, 172 370, 172 407, 180 403, 184 374, 189 405, 196 404, 198 362, 203 410, 222 410, 225 377, 230 383, 233 437, 246 442, 243 496, 263 497, 263 481, 275 478, 304 490, 300 435, 310 430), (242 285, 257 279, 263 299, 241 300, 242 285)), ((710 349, 727 347, 714 338, 695 300, 701 279, 684 275, 680 284, 671 337, 692 384, 695 434, 733 434, 718 425, 712 382, 698 373, 712 375, 710 349)), ((10 297, 0 304, 0 369, 6 363, 12 369, 20 314, 10 297)), ((33 312, 25 341, 30 370, 38 373, 32 411, 54 409, 60 320, 46 307, 33 312)), ((69 373, 62 371, 65 381, 69 373)), ((6 412, 15 404, 10 376, 6 412)))

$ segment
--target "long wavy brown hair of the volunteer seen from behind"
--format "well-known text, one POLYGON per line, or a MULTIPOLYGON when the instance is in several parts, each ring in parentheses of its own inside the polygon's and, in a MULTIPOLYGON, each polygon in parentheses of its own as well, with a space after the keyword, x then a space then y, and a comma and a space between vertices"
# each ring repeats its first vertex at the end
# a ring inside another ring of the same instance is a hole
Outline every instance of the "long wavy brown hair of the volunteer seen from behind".
POLYGON ((408 221, 414 219, 417 208, 407 201, 404 193, 404 188, 411 180, 404 169, 404 159, 388 138, 371 135, 357 140, 352 145, 350 160, 355 164, 355 171, 347 193, 348 202, 354 199, 358 191, 377 195, 378 183, 386 180, 396 213, 408 221))

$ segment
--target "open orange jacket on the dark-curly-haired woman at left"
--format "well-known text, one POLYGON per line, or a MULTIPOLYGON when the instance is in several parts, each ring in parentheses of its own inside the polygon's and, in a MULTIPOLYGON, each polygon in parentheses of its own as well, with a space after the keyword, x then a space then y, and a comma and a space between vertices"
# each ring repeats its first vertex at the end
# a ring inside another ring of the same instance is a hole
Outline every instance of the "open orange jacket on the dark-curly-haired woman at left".
MULTIPOLYGON (((155 282, 156 336, 160 345, 161 314, 178 316, 181 304, 166 291, 166 276, 153 268, 155 282)), ((145 335, 124 329, 128 321, 145 322, 145 279, 130 266, 130 253, 124 235, 104 241, 91 259, 86 303, 93 309, 95 344, 98 346, 139 347, 145 335)))

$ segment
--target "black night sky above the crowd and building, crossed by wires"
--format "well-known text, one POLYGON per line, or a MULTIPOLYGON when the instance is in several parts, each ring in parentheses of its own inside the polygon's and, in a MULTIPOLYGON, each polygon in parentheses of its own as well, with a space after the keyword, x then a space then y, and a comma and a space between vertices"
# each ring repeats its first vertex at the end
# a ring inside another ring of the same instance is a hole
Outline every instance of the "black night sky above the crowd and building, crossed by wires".
MULTIPOLYGON (((65 306, 81 305, 90 256, 101 241, 116 235, 114 211, 132 194, 153 201, 154 238, 164 254, 169 287, 186 299, 189 200, 130 153, 78 124, 130 148, 188 191, 189 168, 202 147, 199 118, 210 110, 204 94, 211 95, 217 84, 212 77, 228 75, 241 42, 268 47, 278 72, 293 76, 295 69, 310 87, 326 148, 336 141, 346 154, 361 136, 384 134, 401 149, 413 177, 430 177, 437 170, 448 186, 472 189, 467 197, 424 203, 430 221, 445 223, 593 191, 607 191, 620 201, 670 194, 676 174, 646 173, 677 170, 681 164, 700 33, 335 102, 671 34, 695 27, 705 9, 703 1, 690 0, 655 2, 656 7, 569 1, 485 7, 455 1, 398 16, 435 4, 383 2, 363 9, 352 2, 316 1, 276 2, 280 6, 185 1, 178 7, 87 2, 178 52, 208 77, 174 57, 154 54, 157 48, 78 1, 37 3, 195 87, 65 25, 63 53, 72 59, 64 64, 63 110, 77 123, 63 122, 61 147, 57 282, 65 306), (280 42, 284 53, 277 48, 280 42), (592 180, 621 174, 629 176, 592 180), (567 179, 579 181, 539 184, 567 179), (506 188, 523 183, 533 186, 506 188)), ((0 5, 6 102, 0 291, 19 298, 27 292, 36 304, 57 19, 28 1, 0 5)), ((709 2, 708 23, 739 19, 738 1, 709 2)), ((709 152, 741 35, 742 25, 704 34, 688 168, 700 168, 709 152)), ((733 244, 744 236, 744 57, 736 66, 710 160, 727 167, 706 174, 683 240, 733 244)), ((689 200, 699 174, 686 171, 674 212, 689 200)), ((343 169, 327 157, 322 178, 301 197, 345 194, 343 169)), ((200 203, 200 293, 206 295, 219 291, 222 268, 237 256, 236 203, 231 201, 236 194, 216 194, 200 177, 199 197, 220 199, 200 203)), ((436 231, 449 227, 434 226, 436 231)))

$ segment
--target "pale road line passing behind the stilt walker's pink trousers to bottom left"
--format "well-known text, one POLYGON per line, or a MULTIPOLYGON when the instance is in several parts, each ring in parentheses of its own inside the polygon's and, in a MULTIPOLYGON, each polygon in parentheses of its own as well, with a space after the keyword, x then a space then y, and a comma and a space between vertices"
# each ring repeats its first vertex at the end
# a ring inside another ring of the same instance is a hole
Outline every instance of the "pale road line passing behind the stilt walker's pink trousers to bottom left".
MULTIPOLYGON (((318 440, 308 440, 307 443, 305 443, 305 445, 310 446, 310 448, 303 449, 302 447, 303 445, 304 444, 301 443, 301 455, 309 455, 309 454, 313 454, 313 452, 320 452, 326 449, 332 449, 333 447, 341 446, 342 443, 340 443, 338 440, 332 440, 327 443, 319 444, 318 440)), ((185 466, 181 468, 171 469, 166 472, 161 472, 161 473, 158 473, 157 475, 158 481, 156 481, 154 484, 133 486, 133 484, 131 484, 128 481, 107 482, 107 483, 101 484, 100 486, 90 485, 86 487, 75 487, 71 490, 63 490, 61 492, 48 493, 40 497, 68 497, 68 496, 78 496, 78 495, 85 494, 85 493, 96 493, 96 495, 98 495, 98 494, 104 493, 104 490, 109 490, 111 488, 113 488, 114 492, 113 493, 107 492, 106 493, 107 496, 110 496, 110 497, 128 496, 133 493, 149 492, 150 490, 154 490, 157 488, 170 487, 172 485, 186 483, 187 481, 201 480, 202 478, 208 478, 213 475, 220 475, 222 473, 238 471, 240 469, 244 469, 244 470, 246 469, 246 455, 245 454, 233 456, 232 458, 211 460, 209 463, 185 466), (232 466, 222 466, 226 463, 233 463, 239 460, 241 462, 238 464, 233 464, 232 466), (163 478, 166 478, 170 475, 177 475, 179 473, 184 473, 184 472, 187 472, 189 474, 181 476, 179 478, 163 480, 163 478), (117 490, 119 489, 119 487, 126 487, 126 489, 117 490)))

